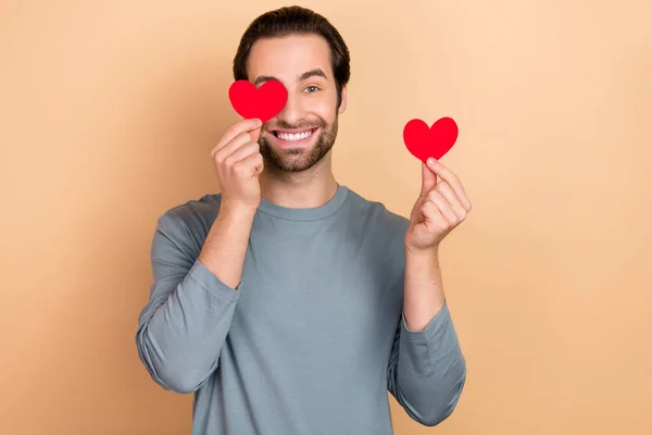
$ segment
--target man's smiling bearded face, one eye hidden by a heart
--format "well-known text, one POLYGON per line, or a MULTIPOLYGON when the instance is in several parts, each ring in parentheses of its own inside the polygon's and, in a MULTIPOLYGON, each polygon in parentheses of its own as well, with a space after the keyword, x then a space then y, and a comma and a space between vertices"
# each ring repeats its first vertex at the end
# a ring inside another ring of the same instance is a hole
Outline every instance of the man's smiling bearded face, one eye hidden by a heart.
POLYGON ((261 154, 285 172, 312 167, 330 151, 337 137, 337 88, 326 40, 316 35, 259 39, 247 63, 256 87, 277 79, 288 90, 284 110, 261 132, 261 154))

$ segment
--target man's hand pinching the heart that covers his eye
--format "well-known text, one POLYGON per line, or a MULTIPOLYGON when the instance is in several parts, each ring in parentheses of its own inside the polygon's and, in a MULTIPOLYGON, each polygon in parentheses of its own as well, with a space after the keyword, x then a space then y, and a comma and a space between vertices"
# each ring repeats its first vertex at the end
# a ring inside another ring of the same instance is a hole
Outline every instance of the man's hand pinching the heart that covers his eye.
POLYGON ((211 151, 223 202, 258 209, 261 201, 259 175, 264 167, 258 142, 262 125, 258 119, 237 122, 211 151))

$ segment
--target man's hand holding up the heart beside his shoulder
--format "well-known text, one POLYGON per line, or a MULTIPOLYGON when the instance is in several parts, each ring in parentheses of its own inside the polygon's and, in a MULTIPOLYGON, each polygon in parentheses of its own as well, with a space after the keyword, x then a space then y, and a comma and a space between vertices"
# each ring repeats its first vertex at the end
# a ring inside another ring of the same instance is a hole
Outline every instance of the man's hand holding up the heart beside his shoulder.
POLYGON ((405 233, 405 249, 415 252, 437 250, 471 211, 471 201, 457 175, 435 159, 428 163, 422 162, 422 190, 405 233))

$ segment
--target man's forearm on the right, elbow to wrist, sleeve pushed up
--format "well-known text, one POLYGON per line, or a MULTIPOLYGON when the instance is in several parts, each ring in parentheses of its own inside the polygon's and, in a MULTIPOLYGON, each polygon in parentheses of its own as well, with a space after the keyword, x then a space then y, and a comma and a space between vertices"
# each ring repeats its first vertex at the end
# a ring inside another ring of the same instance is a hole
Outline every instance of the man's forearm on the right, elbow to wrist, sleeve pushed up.
POLYGON ((465 381, 466 362, 437 254, 406 251, 403 315, 390 356, 388 389, 413 420, 434 426, 453 412, 465 381))

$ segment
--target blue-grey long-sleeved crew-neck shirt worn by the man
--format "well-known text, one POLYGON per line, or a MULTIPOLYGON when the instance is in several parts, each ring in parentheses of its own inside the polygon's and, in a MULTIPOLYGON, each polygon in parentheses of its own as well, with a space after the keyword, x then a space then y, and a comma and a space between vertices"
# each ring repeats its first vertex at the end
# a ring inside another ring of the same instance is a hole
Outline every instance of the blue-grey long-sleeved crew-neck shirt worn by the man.
POLYGON ((448 303, 406 327, 408 219, 342 185, 312 209, 262 199, 234 289, 198 260, 220 203, 159 219, 136 334, 154 382, 195 394, 192 435, 389 435, 387 391, 424 425, 450 415, 466 364, 448 303))

